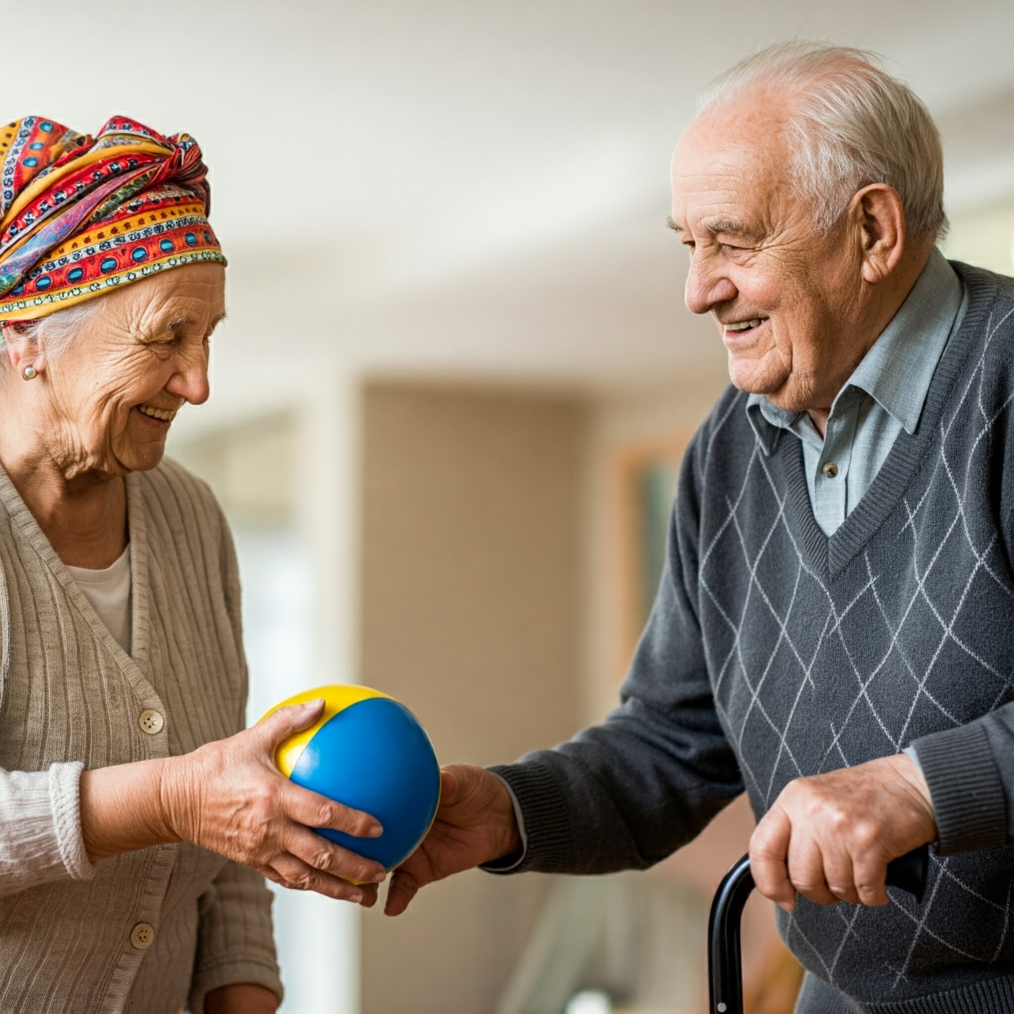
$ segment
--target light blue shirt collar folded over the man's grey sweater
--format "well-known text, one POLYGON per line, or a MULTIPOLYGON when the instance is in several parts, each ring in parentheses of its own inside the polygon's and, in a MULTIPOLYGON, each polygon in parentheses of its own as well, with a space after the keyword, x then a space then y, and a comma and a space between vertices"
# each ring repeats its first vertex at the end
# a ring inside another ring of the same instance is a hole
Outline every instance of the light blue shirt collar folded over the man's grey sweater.
MULTIPOLYGON (((912 291, 881 332, 831 406, 850 387, 859 387, 915 432, 944 347, 959 322, 964 289, 957 273, 934 247, 912 291)), ((787 412, 764 394, 746 400, 746 417, 766 454, 782 430, 792 429, 803 413, 787 412)))

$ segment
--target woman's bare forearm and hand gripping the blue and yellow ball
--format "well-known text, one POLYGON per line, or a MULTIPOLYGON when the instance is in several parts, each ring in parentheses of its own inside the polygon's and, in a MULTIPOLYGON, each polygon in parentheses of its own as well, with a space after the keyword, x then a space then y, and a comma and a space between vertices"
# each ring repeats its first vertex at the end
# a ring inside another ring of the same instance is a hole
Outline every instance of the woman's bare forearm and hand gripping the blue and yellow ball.
POLYGON ((84 772, 81 824, 88 858, 193 842, 285 887, 372 906, 383 867, 311 828, 376 838, 380 825, 300 788, 275 767, 278 744, 309 728, 322 708, 322 701, 280 708, 252 728, 183 756, 84 772))

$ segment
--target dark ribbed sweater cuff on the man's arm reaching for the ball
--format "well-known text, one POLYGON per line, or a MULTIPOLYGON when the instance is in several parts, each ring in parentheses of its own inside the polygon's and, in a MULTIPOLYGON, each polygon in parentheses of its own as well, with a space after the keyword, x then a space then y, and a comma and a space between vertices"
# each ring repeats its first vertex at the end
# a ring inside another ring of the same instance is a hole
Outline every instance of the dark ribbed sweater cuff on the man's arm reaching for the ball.
MULTIPOLYGON (((489 769, 507 783, 521 812, 525 830, 524 854, 508 869, 484 866, 490 873, 562 872, 567 865, 573 836, 563 794, 551 769, 537 760, 498 765, 489 769)), ((512 861, 515 857, 511 857, 512 861)))

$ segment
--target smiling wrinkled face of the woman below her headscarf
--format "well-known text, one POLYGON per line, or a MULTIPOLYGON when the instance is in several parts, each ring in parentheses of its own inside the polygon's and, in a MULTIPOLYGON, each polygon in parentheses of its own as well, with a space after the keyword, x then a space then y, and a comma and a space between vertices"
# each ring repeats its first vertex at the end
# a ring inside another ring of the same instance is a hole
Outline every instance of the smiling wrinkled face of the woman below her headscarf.
POLYGON ((225 313, 225 270, 188 265, 102 296, 67 348, 40 348, 43 439, 67 479, 152 468, 172 419, 208 397, 209 340, 225 313))

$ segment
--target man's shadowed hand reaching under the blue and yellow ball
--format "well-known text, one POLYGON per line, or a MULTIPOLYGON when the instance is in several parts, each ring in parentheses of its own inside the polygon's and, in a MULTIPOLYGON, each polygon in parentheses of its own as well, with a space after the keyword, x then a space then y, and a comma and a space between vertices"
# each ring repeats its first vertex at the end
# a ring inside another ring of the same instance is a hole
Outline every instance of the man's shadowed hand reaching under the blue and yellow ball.
POLYGON ((384 913, 400 916, 420 887, 520 848, 514 806, 503 782, 484 768, 448 765, 436 820, 423 844, 394 871, 384 913))

